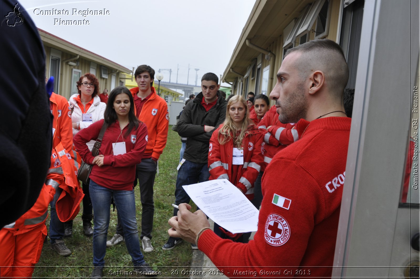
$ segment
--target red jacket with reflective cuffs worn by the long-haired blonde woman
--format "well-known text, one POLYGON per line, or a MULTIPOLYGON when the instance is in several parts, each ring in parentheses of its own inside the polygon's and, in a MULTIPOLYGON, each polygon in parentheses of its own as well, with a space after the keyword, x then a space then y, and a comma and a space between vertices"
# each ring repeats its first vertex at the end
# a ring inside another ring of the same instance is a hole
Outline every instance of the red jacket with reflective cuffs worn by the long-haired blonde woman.
POLYGON ((210 138, 208 155, 210 180, 229 179, 249 200, 252 200, 254 198, 254 182, 260 172, 263 160, 261 153, 263 133, 256 126, 250 129, 250 134, 244 137, 242 141, 244 165, 237 168, 237 173, 233 173, 232 153, 234 143, 233 140, 229 140, 224 145, 220 145, 218 133, 222 127, 223 124, 220 124, 210 138))

